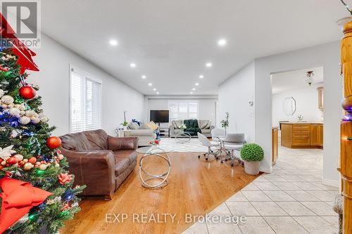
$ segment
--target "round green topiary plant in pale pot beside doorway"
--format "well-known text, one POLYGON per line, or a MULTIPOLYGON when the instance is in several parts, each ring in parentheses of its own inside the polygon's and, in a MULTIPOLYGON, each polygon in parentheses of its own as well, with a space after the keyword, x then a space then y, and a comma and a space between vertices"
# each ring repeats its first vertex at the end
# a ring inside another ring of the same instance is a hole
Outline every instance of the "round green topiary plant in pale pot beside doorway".
POLYGON ((264 151, 259 145, 251 143, 241 148, 241 158, 244 160, 246 174, 258 175, 260 161, 264 158, 264 151))

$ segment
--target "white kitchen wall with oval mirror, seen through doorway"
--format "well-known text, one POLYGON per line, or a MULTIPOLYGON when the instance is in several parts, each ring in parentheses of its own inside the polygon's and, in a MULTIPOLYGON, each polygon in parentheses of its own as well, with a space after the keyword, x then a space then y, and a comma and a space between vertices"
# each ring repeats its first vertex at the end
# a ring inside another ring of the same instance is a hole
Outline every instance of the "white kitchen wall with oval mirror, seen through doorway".
MULTIPOLYGON (((319 86, 322 86, 322 84, 319 86)), ((304 121, 321 122, 322 112, 318 108, 317 87, 317 85, 312 84, 312 86, 307 86, 306 89, 295 89, 272 95, 272 126, 279 126, 279 121, 282 120, 297 122, 298 115, 302 115, 304 121), (284 99, 290 97, 296 100, 294 115, 286 115, 282 108, 284 99)))

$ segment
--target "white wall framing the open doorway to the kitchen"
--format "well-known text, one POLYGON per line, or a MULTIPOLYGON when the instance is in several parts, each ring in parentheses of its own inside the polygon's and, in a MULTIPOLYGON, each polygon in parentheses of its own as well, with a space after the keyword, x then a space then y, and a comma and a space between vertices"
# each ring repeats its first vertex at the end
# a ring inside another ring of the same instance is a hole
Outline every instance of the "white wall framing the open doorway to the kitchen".
POLYGON ((265 151, 262 170, 271 171, 272 148, 272 72, 324 67, 324 162, 323 183, 338 184, 337 172, 340 153, 340 119, 342 117, 342 79, 340 73, 340 44, 303 48, 298 51, 258 58, 256 63, 256 143, 265 151))

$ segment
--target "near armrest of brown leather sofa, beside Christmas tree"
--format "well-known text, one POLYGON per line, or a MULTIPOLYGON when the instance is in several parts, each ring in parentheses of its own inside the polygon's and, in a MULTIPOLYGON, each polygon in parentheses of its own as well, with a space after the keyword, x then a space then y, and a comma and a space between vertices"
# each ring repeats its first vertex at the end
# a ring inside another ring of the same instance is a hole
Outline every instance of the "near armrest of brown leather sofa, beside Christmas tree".
POLYGON ((71 151, 63 155, 75 175, 76 185, 87 185, 82 195, 112 197, 115 191, 115 157, 111 150, 71 151))

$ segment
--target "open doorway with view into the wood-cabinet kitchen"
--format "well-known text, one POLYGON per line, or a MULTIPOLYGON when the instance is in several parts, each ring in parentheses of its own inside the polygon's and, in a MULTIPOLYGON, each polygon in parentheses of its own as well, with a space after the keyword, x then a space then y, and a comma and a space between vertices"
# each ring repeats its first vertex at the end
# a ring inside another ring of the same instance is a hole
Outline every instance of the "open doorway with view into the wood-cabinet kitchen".
POLYGON ((323 67, 276 72, 271 80, 272 164, 284 153, 304 155, 309 149, 318 149, 322 161, 323 67))

